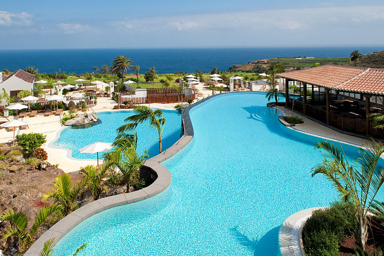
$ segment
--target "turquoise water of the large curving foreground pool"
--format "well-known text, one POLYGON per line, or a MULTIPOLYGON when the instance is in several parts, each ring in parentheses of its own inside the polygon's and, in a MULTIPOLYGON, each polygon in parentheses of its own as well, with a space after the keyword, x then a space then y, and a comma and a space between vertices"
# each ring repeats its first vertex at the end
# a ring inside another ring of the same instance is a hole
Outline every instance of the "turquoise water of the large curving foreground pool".
POLYGON ((168 189, 90 217, 54 255, 87 242, 82 256, 276 256, 282 222, 329 205, 337 193, 322 176, 311 177, 322 160, 314 149, 320 139, 284 127, 266 103, 265 94, 239 93, 192 108, 191 143, 163 162, 172 173, 168 189))

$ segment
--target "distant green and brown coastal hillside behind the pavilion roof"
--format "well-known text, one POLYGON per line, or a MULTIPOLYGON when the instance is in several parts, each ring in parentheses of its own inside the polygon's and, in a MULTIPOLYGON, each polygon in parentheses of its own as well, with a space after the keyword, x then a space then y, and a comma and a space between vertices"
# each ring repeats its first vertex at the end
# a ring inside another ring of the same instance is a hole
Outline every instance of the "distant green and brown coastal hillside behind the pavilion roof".
MULTIPOLYGON (((250 61, 248 64, 237 64, 229 67, 232 72, 265 72, 269 62, 280 61, 287 69, 302 69, 313 67, 315 65, 337 64, 337 65, 353 65, 350 57, 343 58, 313 58, 313 57, 279 57, 273 59, 250 61)), ((363 55, 361 61, 357 62, 357 66, 364 67, 380 67, 384 68, 384 51, 374 52, 363 55)))

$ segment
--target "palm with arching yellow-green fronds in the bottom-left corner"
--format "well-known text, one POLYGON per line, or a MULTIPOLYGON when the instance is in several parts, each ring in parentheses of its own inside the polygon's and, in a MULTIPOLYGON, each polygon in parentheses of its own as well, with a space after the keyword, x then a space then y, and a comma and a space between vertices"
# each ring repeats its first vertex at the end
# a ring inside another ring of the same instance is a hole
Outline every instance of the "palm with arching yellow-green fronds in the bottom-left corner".
POLYGON ((36 213, 33 225, 28 228, 28 216, 25 213, 15 213, 12 209, 8 212, 4 212, 0 221, 9 221, 12 225, 4 229, 2 239, 8 237, 15 237, 19 239, 19 248, 21 252, 33 242, 36 234, 38 233, 39 227, 46 222, 46 219, 52 213, 61 213, 62 206, 50 205, 36 213))

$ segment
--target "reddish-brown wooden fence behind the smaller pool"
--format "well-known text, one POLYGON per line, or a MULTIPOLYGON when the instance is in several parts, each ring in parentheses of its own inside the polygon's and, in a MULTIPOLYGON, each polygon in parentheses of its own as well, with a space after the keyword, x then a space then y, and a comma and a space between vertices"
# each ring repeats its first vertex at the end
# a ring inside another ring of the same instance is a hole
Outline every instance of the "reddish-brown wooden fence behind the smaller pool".
POLYGON ((150 103, 178 103, 178 102, 186 102, 187 99, 195 99, 195 94, 189 96, 181 96, 179 95, 166 95, 166 96, 147 96, 146 97, 128 97, 128 96, 120 96, 119 103, 127 101, 130 104, 138 105, 138 104, 150 104, 150 103))

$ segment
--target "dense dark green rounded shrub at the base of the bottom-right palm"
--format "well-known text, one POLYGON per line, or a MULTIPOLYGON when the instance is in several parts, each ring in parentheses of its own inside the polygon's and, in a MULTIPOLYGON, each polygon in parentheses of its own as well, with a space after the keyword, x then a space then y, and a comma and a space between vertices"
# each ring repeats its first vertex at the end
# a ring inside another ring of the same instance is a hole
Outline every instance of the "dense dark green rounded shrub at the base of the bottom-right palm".
POLYGON ((353 235, 356 224, 352 204, 335 202, 329 208, 314 211, 303 227, 306 255, 338 256, 341 240, 353 235))

